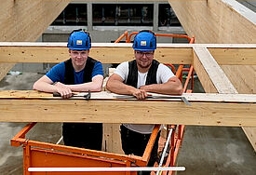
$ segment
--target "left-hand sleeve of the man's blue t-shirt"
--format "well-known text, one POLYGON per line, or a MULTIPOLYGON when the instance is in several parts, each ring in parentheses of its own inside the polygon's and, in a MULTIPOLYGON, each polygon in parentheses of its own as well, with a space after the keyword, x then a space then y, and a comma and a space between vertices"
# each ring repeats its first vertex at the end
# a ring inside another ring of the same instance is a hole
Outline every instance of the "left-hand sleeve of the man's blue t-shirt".
POLYGON ((61 62, 55 66, 53 66, 49 72, 47 72, 47 77, 54 82, 64 82, 64 74, 65 74, 65 64, 61 62))

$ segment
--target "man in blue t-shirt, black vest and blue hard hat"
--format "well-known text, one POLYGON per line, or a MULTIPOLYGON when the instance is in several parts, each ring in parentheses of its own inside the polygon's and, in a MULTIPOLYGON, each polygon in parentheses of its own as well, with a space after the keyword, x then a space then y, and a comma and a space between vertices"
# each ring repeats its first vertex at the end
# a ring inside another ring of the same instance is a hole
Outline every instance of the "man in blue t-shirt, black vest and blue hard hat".
MULTIPOLYGON (((58 92, 63 99, 73 92, 101 91, 103 69, 100 61, 88 57, 91 40, 87 32, 75 30, 69 36, 70 59, 55 65, 34 83, 33 89, 58 92)), ((65 145, 101 150, 102 124, 63 123, 65 145)))

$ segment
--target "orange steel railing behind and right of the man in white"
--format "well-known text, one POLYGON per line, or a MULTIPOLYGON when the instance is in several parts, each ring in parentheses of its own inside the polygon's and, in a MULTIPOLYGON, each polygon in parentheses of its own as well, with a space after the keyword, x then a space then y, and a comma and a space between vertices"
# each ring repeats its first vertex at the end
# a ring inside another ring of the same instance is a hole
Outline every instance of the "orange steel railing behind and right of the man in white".
MULTIPOLYGON (((128 31, 126 31, 124 34, 120 35, 120 37, 115 40, 115 43, 119 43, 123 38, 125 38, 126 43, 130 43, 132 35, 135 35, 135 34, 138 34, 138 33, 139 32, 128 34, 128 31)), ((155 36, 181 37, 181 38, 186 38, 188 40, 189 44, 194 44, 195 43, 195 37, 194 36, 192 38, 190 38, 189 36, 184 35, 184 34, 155 34, 155 36)), ((165 63, 165 65, 168 65, 171 68, 172 72, 175 73, 175 67, 172 64, 165 63)), ((179 77, 181 82, 182 82, 182 79, 183 79, 182 78, 183 72, 188 73, 187 77, 185 79, 184 85, 183 85, 183 93, 184 92, 192 93, 193 88, 194 88, 194 68, 193 68, 192 65, 190 65, 189 68, 184 68, 183 64, 179 65, 179 68, 178 68, 175 75, 177 77, 179 77), (189 81, 191 83, 190 84, 191 85, 190 89, 188 89, 189 81)), ((175 165, 179 149, 182 145, 182 139, 183 139, 184 130, 185 130, 185 126, 183 126, 183 125, 178 125, 178 126, 170 125, 170 126, 168 126, 168 129, 169 128, 173 128, 174 131, 172 132, 171 139, 169 141, 169 148, 170 149, 169 149, 169 153, 168 153, 168 158, 167 158, 167 161, 166 161, 166 163, 163 167, 173 167, 175 165)), ((174 171, 171 171, 171 170, 162 172, 163 175, 173 174, 173 173, 174 173, 174 171)))

